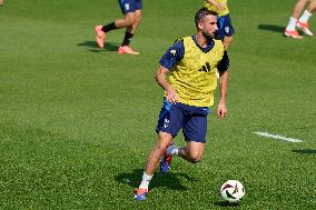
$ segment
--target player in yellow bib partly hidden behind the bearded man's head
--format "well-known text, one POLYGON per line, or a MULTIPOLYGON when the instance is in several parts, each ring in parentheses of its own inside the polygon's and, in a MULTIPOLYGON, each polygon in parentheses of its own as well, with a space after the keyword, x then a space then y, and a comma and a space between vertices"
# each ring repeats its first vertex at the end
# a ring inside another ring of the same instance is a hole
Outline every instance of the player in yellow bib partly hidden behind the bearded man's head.
POLYGON ((218 13, 218 37, 223 40, 225 49, 233 42, 235 29, 231 24, 227 0, 205 0, 205 7, 218 13))

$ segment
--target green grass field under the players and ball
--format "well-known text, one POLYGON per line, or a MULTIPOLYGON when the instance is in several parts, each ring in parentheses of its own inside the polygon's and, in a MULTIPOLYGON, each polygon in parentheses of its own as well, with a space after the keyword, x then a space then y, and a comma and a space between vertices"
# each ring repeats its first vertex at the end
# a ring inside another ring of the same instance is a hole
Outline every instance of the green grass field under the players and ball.
POLYGON ((145 0, 132 40, 141 54, 131 57, 116 52, 124 30, 108 34, 106 50, 95 43, 93 26, 121 17, 117 1, 7 0, 0 209, 316 209, 316 39, 283 36, 295 0, 229 3, 229 116, 209 116, 199 164, 175 158, 136 202, 162 100, 154 74, 174 40, 195 32, 203 1, 145 0), (219 198, 228 179, 246 188, 237 207, 219 198))

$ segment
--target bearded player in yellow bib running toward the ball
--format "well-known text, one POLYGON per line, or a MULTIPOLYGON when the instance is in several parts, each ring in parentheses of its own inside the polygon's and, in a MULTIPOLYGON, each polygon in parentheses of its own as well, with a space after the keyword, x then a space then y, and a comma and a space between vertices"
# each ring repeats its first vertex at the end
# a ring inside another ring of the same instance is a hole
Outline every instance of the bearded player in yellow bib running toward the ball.
POLYGON ((164 104, 156 132, 157 142, 148 154, 140 186, 135 191, 136 200, 145 200, 149 182, 160 163, 160 172, 170 169, 172 156, 191 163, 201 160, 207 132, 207 116, 214 104, 214 91, 219 71, 220 99, 217 117, 227 114, 228 54, 221 40, 216 40, 217 13, 207 8, 195 16, 197 32, 171 46, 160 59, 156 80, 165 91, 164 104), (182 129, 185 147, 176 147, 172 139, 182 129))

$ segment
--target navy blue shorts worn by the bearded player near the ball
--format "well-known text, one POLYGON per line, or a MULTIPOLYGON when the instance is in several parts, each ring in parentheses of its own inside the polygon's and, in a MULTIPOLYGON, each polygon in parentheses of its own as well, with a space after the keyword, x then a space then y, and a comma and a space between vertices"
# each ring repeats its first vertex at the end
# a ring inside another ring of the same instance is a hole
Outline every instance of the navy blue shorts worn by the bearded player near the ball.
POLYGON ((156 132, 176 137, 182 129, 186 141, 206 142, 208 107, 194 107, 180 102, 169 103, 166 99, 159 114, 156 132))

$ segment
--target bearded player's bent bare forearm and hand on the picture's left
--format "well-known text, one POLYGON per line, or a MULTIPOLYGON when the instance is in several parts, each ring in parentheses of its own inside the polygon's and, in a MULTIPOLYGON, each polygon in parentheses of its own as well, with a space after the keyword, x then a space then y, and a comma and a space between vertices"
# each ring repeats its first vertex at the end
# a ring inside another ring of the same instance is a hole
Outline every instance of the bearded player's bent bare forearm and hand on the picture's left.
POLYGON ((156 72, 156 81, 164 90, 167 91, 167 100, 171 103, 176 103, 178 102, 178 94, 174 87, 166 80, 166 76, 168 72, 168 69, 160 66, 160 68, 156 72))

